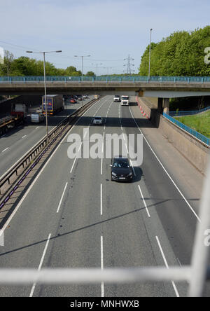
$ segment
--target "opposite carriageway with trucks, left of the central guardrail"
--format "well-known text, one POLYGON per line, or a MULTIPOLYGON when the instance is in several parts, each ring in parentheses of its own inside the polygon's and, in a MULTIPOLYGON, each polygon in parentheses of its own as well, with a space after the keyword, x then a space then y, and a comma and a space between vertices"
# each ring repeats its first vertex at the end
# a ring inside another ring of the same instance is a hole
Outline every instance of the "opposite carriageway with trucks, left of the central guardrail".
MULTIPOLYGON (((85 99, 83 104, 87 104, 93 96, 85 99)), ((57 113, 55 116, 48 116, 49 132, 73 111, 80 108, 82 102, 78 104, 69 104, 67 102, 67 109, 57 113)), ((20 158, 22 158, 30 148, 32 148, 38 141, 40 141, 46 134, 45 121, 43 123, 31 123, 28 117, 27 123, 23 126, 10 130, 7 134, 0 137, 0 177, 20 158)))

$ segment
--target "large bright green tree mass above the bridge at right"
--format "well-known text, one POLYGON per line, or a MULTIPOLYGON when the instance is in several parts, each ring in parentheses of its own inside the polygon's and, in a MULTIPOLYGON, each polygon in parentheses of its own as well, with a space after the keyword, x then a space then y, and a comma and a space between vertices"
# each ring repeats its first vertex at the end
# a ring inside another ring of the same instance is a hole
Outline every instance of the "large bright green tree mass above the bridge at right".
MULTIPOLYGON (((209 76, 204 49, 210 46, 210 26, 193 32, 174 32, 151 44, 151 76, 209 76)), ((148 75, 149 46, 141 57, 139 74, 148 75)))

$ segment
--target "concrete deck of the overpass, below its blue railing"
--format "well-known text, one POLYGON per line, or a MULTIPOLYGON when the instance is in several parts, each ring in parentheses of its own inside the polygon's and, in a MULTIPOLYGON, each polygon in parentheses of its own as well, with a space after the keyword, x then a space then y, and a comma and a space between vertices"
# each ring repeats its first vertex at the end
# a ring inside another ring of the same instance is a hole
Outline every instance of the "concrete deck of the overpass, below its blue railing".
MULTIPOLYGON (((42 95, 43 81, 0 81, 0 95, 42 95)), ((186 81, 47 81, 48 94, 189 97, 210 95, 210 82, 186 81)))

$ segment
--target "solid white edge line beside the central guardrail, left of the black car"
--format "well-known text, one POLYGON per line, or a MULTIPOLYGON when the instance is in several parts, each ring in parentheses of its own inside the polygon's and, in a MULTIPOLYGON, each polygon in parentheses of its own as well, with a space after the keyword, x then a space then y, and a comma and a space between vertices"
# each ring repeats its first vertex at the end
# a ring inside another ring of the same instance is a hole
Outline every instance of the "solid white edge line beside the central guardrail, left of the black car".
MULTIPOLYGON (((98 102, 96 102, 95 104, 97 104, 98 102)), ((94 106, 94 104, 93 104, 94 106)), ((90 106, 89 109, 87 109, 87 111, 89 111, 93 106, 90 106)), ((87 113, 87 111, 85 111, 85 113, 87 113)), ((84 115, 83 115, 84 116, 84 115)), ((80 116, 80 118, 82 118, 83 116, 80 116)), ((75 125, 78 123, 78 121, 80 120, 80 118, 78 118, 78 120, 76 121, 75 125)), ((73 127, 75 127, 75 125, 73 125, 73 127)), ((66 133, 66 135, 64 136, 64 138, 62 139, 62 141, 60 141, 60 143, 58 144, 58 146, 55 148, 55 150, 53 151, 52 155, 50 155, 50 158, 48 158, 47 162, 45 163, 45 165, 43 166, 43 168, 41 169, 41 171, 38 173, 38 175, 36 176, 36 178, 34 179, 34 181, 32 182, 31 186, 29 186, 28 190, 26 191, 25 195, 23 195, 22 199, 20 200, 20 202, 18 203, 17 207, 14 209, 13 213, 10 215, 10 217, 8 218, 8 221, 6 221, 6 223, 4 224, 3 228, 1 229, 2 232, 4 232, 4 230, 8 227, 8 224, 10 223, 10 221, 13 219, 13 216, 15 216, 15 214, 18 212, 18 209, 20 208, 20 206, 22 205, 22 202, 25 200, 25 198, 27 197, 28 193, 31 191, 31 188, 34 186, 34 184, 36 183, 38 177, 40 177, 41 173, 43 172, 43 170, 45 169, 45 167, 48 165, 48 163, 50 162, 51 158, 53 157, 53 155, 55 155, 57 149, 59 148, 59 146, 62 145, 63 141, 66 139, 66 137, 69 135, 69 133, 71 132, 71 130, 73 130, 73 127, 71 127, 71 129, 69 130, 69 132, 66 133)))

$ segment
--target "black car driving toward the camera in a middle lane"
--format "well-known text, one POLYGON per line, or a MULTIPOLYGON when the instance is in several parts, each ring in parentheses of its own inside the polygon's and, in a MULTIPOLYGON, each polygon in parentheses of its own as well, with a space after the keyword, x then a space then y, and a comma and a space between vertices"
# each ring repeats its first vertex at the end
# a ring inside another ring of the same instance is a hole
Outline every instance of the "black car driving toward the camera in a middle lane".
POLYGON ((128 158, 121 156, 111 160, 111 181, 132 181, 133 171, 128 158))

